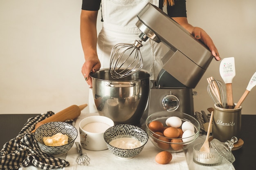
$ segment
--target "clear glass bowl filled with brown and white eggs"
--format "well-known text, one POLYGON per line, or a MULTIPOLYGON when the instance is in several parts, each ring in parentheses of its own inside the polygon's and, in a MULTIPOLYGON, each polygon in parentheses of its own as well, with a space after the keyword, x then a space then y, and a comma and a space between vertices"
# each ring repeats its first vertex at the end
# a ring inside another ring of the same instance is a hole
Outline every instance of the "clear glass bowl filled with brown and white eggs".
POLYGON ((159 149, 182 152, 198 138, 200 124, 192 116, 177 111, 160 111, 146 119, 146 132, 159 149))

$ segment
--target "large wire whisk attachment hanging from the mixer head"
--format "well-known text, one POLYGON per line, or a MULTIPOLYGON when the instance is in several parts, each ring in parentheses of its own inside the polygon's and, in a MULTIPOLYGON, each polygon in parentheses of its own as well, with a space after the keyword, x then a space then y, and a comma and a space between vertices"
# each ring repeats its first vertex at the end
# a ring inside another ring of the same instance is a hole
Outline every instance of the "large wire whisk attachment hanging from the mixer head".
POLYGON ((140 47, 143 46, 142 41, 146 41, 148 37, 141 33, 139 38, 140 40, 135 40, 133 44, 119 43, 112 48, 109 68, 112 78, 124 78, 142 69, 140 47))

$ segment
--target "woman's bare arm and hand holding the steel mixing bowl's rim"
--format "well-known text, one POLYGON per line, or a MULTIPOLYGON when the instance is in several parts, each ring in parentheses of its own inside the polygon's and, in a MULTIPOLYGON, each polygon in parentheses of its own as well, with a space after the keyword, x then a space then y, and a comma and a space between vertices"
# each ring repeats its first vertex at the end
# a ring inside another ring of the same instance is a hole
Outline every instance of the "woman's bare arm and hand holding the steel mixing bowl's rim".
POLYGON ((81 72, 90 88, 92 88, 90 72, 96 72, 101 67, 97 55, 97 15, 98 11, 81 11, 80 36, 85 58, 81 72))

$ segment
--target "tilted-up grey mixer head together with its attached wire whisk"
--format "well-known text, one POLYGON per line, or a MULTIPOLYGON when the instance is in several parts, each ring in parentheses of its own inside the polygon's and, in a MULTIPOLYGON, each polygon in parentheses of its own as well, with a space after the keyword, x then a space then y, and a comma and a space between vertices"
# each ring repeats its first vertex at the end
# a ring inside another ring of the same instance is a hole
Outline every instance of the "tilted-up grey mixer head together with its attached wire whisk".
POLYGON ((148 38, 164 43, 170 48, 163 56, 165 69, 177 81, 195 88, 213 59, 211 51, 200 40, 175 22, 161 9, 148 3, 137 14, 136 26, 142 32, 133 44, 118 44, 110 56, 113 78, 123 78, 138 72, 143 66, 139 48, 148 38))

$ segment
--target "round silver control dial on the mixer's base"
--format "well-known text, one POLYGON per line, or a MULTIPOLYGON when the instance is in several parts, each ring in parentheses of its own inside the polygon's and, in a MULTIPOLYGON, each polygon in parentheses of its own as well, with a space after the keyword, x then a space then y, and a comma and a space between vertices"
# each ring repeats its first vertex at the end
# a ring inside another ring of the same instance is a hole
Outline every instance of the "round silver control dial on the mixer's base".
POLYGON ((180 100, 173 94, 167 94, 162 99, 162 106, 165 110, 174 111, 180 106, 180 100))

